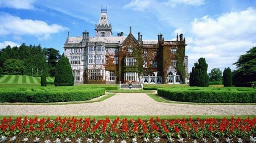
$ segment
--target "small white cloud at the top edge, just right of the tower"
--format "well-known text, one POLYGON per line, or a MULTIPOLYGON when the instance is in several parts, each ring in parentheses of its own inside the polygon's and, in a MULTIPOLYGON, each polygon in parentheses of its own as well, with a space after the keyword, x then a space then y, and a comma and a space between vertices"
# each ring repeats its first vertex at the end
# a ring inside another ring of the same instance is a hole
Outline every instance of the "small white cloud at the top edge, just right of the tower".
POLYGON ((150 7, 154 0, 132 0, 123 8, 131 8, 132 10, 144 11, 146 8, 150 7))

